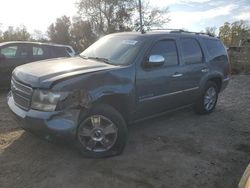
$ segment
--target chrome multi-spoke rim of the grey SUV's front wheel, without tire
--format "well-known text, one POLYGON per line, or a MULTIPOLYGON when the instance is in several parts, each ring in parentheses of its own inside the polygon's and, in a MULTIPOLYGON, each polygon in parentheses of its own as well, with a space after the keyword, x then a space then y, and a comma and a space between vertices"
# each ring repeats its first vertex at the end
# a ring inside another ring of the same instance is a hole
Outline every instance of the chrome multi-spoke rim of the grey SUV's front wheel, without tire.
POLYGON ((92 115, 85 119, 78 130, 78 139, 89 151, 104 152, 113 147, 118 129, 107 117, 92 115))

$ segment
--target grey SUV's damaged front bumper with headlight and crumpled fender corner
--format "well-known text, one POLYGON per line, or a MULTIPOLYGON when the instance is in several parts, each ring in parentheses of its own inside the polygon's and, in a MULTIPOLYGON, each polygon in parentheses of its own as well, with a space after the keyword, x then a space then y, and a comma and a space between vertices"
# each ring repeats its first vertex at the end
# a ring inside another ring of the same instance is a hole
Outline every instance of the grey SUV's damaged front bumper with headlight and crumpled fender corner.
POLYGON ((83 90, 34 90, 30 109, 24 110, 15 104, 12 94, 8 96, 8 105, 18 124, 47 140, 54 137, 74 139, 79 115, 89 107, 89 101, 89 96, 83 90))

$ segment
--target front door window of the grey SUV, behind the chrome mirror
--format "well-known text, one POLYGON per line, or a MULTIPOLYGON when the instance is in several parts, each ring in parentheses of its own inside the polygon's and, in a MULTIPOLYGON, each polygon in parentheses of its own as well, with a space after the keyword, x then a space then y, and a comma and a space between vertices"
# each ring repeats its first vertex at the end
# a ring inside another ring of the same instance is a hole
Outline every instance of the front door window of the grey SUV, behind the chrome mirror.
POLYGON ((150 55, 162 55, 165 66, 178 65, 177 48, 174 40, 162 40, 151 49, 150 55))

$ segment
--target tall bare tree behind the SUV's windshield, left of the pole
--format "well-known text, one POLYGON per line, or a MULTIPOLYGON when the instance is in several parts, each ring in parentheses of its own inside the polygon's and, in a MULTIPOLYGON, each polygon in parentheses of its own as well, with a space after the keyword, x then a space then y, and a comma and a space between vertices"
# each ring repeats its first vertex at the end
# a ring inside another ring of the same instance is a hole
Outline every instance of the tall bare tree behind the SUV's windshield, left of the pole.
POLYGON ((130 30, 134 0, 80 0, 78 13, 97 34, 130 30))

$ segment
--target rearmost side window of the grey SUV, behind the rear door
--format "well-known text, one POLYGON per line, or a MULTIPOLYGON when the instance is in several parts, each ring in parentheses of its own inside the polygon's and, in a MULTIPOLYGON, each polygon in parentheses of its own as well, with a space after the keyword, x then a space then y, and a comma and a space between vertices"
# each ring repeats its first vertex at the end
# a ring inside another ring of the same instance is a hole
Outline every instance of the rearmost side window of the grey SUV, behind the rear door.
POLYGON ((212 58, 226 54, 225 47, 219 40, 203 39, 203 41, 212 58))

